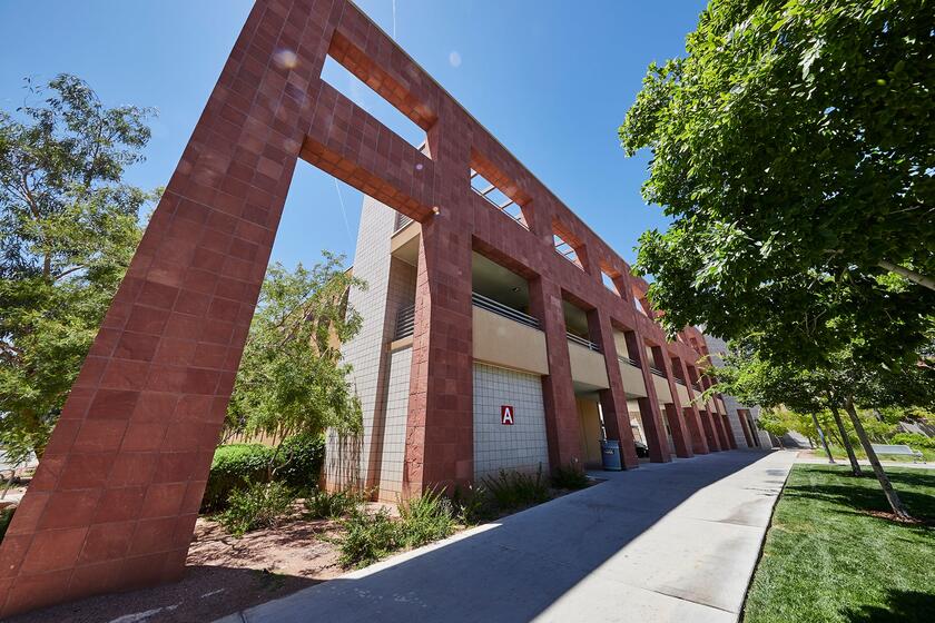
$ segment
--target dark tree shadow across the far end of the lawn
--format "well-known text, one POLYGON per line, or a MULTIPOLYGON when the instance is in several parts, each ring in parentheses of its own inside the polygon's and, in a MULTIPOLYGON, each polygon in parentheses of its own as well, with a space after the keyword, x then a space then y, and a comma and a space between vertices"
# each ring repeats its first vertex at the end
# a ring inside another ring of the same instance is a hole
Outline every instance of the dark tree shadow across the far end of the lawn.
MULTIPOLYGON (((840 482, 787 485, 785 495, 846 506, 862 515, 872 512, 888 513, 890 511, 883 490, 879 488, 873 473, 854 477, 835 469, 821 469, 821 472, 830 472, 828 475, 840 482)), ((935 522, 935 495, 933 495, 935 493, 935 473, 887 471, 887 474, 899 498, 913 516, 929 524, 935 522)))

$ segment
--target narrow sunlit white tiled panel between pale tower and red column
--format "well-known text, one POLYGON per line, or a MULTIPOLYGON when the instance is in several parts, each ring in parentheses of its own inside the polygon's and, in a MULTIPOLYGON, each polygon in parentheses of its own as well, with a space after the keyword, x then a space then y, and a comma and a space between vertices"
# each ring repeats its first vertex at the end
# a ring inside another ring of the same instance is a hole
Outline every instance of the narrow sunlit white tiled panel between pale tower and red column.
POLYGON ((386 416, 383 428, 383 458, 380 468, 380 495, 383 500, 402 491, 411 368, 412 347, 396 350, 390 355, 390 380, 386 384, 386 416))

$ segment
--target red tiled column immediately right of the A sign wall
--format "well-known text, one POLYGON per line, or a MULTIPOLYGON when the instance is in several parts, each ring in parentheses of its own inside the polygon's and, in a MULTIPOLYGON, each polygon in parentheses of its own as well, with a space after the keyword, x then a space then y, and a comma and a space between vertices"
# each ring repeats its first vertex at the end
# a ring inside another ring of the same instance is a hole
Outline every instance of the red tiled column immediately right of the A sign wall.
POLYGON ((580 465, 581 427, 571 380, 561 290, 545 277, 538 277, 529 284, 529 304, 531 314, 539 318, 545 333, 549 353, 549 375, 542 377, 542 402, 550 467, 580 465))

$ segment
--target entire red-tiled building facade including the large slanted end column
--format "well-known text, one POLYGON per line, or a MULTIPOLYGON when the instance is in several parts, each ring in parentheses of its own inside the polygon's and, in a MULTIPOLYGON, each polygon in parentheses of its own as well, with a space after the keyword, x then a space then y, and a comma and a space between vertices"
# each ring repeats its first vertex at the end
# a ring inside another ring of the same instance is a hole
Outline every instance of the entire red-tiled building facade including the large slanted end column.
POLYGON ((354 294, 347 345, 367 429, 333 439, 335 485, 588 464, 594 412, 628 467, 634 422, 651 461, 736 445, 722 400, 692 402, 701 334, 667 342, 646 284, 358 7, 256 0, 0 544, 0 617, 181 576, 299 164, 374 201, 357 269, 380 296, 354 294))

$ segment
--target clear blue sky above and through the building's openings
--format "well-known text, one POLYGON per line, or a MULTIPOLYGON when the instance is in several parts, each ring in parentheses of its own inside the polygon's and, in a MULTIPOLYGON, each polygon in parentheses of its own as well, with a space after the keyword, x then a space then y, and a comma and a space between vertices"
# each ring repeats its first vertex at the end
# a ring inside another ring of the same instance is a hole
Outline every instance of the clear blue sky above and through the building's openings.
MULTIPOLYGON (((640 197, 647 157, 624 158, 617 127, 646 67, 679 56, 701 0, 360 0, 358 6, 628 261, 665 228, 640 197)), ((165 185, 250 10, 249 0, 0 0, 0 107, 22 78, 86 79, 105 103, 151 106, 146 162, 127 181, 165 185), (20 24, 20 26, 17 26, 20 24)), ((404 138, 411 127, 334 67, 324 78, 404 138)), ((273 259, 353 259, 361 194, 299 162, 273 259), (344 204, 342 210, 341 200, 344 204)))

